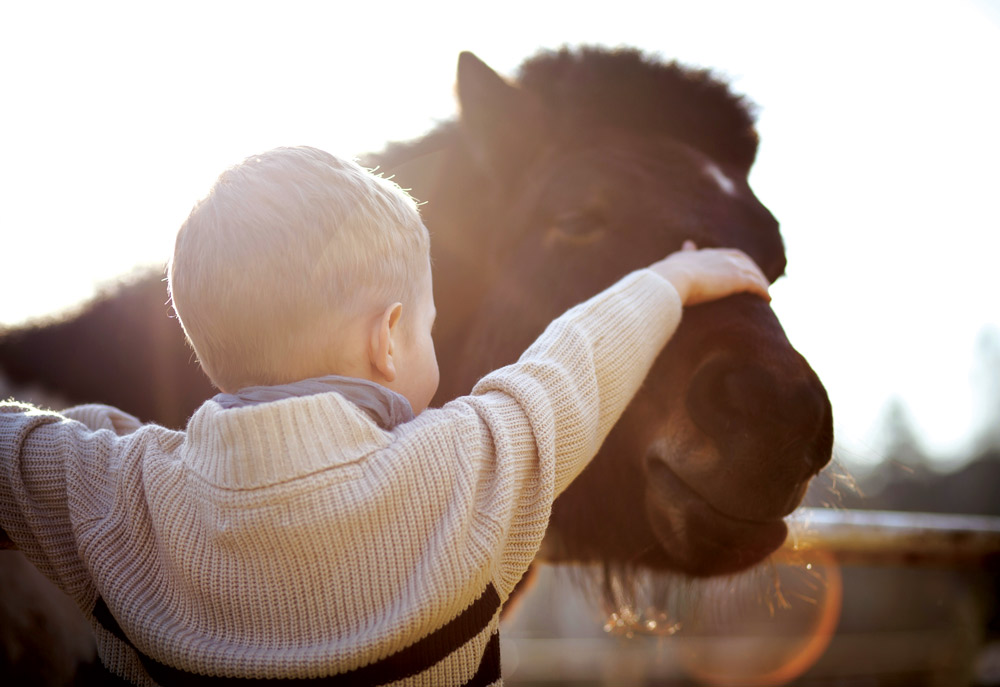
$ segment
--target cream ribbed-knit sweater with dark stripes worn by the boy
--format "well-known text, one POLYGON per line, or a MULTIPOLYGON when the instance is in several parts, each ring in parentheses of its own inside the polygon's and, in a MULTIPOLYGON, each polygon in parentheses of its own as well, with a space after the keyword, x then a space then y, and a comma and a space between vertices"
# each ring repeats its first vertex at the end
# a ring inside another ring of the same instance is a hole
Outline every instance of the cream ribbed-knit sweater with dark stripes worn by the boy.
POLYGON ((635 272, 470 396, 390 431, 337 393, 208 401, 185 432, 2 404, 0 525, 137 684, 161 664, 498 682, 480 668, 499 665, 499 606, 680 314, 666 280, 635 272))

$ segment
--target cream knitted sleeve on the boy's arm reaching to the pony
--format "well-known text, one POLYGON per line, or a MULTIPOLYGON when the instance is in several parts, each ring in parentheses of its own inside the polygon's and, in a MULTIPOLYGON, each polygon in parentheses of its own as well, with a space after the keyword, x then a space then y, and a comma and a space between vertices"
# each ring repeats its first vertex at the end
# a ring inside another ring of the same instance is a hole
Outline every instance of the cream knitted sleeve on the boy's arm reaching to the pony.
MULTIPOLYGON (((517 363, 456 405, 475 410, 463 442, 479 473, 480 551, 500 552, 506 598, 541 544, 552 502, 597 453, 680 322, 665 279, 640 270, 552 322, 517 363), (485 534, 483 534, 485 533, 485 534)), ((448 406, 445 406, 448 408, 448 406)))

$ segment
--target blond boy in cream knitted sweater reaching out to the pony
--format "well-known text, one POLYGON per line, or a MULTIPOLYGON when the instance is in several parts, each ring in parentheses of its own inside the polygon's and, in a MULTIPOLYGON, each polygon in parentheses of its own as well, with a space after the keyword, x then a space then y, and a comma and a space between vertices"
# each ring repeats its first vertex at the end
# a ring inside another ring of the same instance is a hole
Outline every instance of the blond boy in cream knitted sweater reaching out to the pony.
POLYGON ((192 210, 169 272, 222 393, 185 432, 0 405, 0 526, 135 684, 498 684, 500 606, 682 304, 767 297, 742 253, 686 248, 425 410, 414 201, 318 150, 249 158, 192 210))

